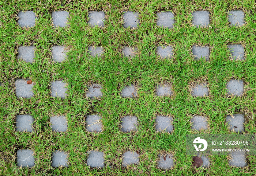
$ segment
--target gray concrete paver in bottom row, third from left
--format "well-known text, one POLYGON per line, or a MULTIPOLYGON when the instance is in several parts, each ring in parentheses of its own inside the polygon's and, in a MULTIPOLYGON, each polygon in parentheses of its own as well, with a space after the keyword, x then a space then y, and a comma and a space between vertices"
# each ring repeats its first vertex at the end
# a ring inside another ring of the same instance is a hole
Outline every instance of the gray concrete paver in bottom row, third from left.
POLYGON ((104 153, 98 151, 89 151, 87 157, 87 165, 91 168, 103 168, 105 166, 104 153))

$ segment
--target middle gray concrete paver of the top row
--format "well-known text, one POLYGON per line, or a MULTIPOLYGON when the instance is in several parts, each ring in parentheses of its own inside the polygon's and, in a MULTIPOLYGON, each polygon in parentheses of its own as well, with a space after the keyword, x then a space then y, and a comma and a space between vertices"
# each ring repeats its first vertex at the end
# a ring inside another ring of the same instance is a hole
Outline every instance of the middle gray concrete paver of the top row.
POLYGON ((124 12, 124 28, 137 28, 140 25, 139 12, 124 12))

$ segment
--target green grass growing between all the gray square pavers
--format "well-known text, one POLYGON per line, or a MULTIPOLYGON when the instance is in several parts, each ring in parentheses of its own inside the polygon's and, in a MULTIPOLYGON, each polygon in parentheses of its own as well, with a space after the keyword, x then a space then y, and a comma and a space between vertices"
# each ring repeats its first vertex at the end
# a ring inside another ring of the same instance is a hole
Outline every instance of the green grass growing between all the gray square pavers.
POLYGON ((256 5, 253 0, 230 1, 0 1, 0 175, 256 175, 256 157, 247 156, 245 168, 230 167, 226 156, 210 156, 209 168, 192 167, 192 157, 186 155, 185 136, 191 130, 191 116, 209 117, 210 129, 202 133, 231 133, 227 128, 227 114, 244 113, 245 133, 256 133, 256 5), (64 7, 61 6, 64 4, 64 7), (209 28, 191 25, 195 10, 210 11, 209 28), (227 11, 245 12, 245 26, 230 27, 227 11), (18 11, 35 12, 35 27, 22 29, 17 23, 18 11), (53 28, 52 11, 69 12, 70 27, 53 28), (103 29, 87 24, 88 11, 105 11, 103 29), (140 13, 139 28, 122 27, 122 11, 140 13), (176 24, 171 30, 155 23, 158 11, 170 10, 176 24), (243 44, 245 60, 229 59, 228 44, 243 44), (159 45, 174 48, 174 58, 162 60, 155 54, 159 45), (211 47, 210 62, 194 61, 192 45, 211 47), (36 48, 33 64, 16 57, 20 45, 36 48), (50 48, 64 45, 69 48, 68 60, 53 63, 50 48), (91 45, 105 49, 102 58, 87 54, 91 45), (138 47, 139 56, 123 58, 121 47, 138 47), (15 79, 32 79, 34 97, 18 99, 15 79), (245 83, 243 97, 227 97, 226 83, 231 78, 245 83), (68 84, 66 99, 50 97, 50 82, 63 79, 68 84), (189 87, 193 81, 208 82, 210 96, 192 97, 189 87), (172 97, 157 97, 158 83, 172 84, 172 97), (103 85, 103 97, 91 100, 85 96, 89 83, 103 85), (120 89, 134 83, 138 97, 121 98, 120 89), (87 114, 102 116, 103 132, 89 133, 85 129, 87 114), (35 117, 34 133, 16 132, 15 116, 31 114, 35 117), (68 131, 52 132, 49 117, 63 114, 68 118, 68 131), (156 114, 174 118, 172 134, 156 132, 156 114), (138 117, 138 132, 122 133, 120 118, 138 117), (35 153, 33 168, 16 166, 16 150, 32 149, 35 153), (68 168, 51 167, 52 151, 69 152, 68 168), (86 165, 86 152, 100 150, 105 153, 106 167, 91 169, 86 165), (122 154, 139 150, 140 164, 121 167, 122 154), (174 154, 176 164, 172 170, 157 168, 157 155, 174 154))

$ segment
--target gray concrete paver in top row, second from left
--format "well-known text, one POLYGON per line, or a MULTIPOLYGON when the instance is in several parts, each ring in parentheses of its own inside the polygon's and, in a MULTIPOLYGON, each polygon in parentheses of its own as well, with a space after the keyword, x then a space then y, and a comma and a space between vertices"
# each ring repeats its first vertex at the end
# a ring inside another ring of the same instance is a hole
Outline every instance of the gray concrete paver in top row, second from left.
POLYGON ((52 20, 54 27, 67 27, 69 13, 67 11, 52 12, 52 20))

